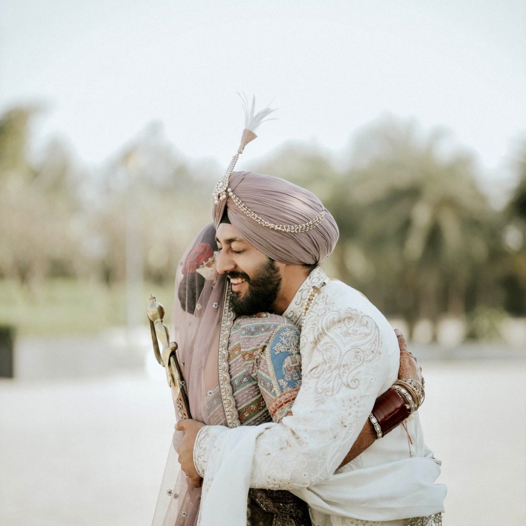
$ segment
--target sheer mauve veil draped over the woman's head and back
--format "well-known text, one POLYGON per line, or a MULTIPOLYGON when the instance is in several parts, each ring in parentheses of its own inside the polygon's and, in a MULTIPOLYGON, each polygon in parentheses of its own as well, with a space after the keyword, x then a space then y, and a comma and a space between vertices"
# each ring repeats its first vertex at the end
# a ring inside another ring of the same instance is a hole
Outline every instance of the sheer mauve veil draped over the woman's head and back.
MULTIPOLYGON (((177 266, 170 337, 178 345, 177 358, 188 387, 191 418, 212 423, 208 422, 208 407, 214 402, 211 397, 215 396, 213 423, 227 425, 217 386, 219 349, 225 344, 221 339, 226 338, 228 342, 230 332, 228 324, 221 330, 221 325, 225 326, 231 316, 230 289, 226 277, 216 272, 215 236, 214 224, 203 228, 177 266)), ((175 416, 178 420, 177 410, 175 416)), ((192 487, 179 470, 176 450, 182 438, 182 431, 174 432, 152 526, 195 526, 197 523, 201 489, 192 487)))

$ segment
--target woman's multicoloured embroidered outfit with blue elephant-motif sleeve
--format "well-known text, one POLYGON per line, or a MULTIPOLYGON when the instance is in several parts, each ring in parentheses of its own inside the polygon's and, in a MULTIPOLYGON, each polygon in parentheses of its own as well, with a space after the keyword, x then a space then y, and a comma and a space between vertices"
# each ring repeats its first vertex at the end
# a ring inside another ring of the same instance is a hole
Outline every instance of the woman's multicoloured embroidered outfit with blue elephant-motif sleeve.
MULTIPOLYGON (((287 319, 268 313, 234 321, 226 358, 241 426, 278 422, 290 412, 301 385, 299 335, 287 319)), ((219 386, 207 393, 207 413, 212 423, 224 418, 219 386)), ((251 489, 247 515, 249 526, 310 526, 307 504, 279 489, 251 489)))

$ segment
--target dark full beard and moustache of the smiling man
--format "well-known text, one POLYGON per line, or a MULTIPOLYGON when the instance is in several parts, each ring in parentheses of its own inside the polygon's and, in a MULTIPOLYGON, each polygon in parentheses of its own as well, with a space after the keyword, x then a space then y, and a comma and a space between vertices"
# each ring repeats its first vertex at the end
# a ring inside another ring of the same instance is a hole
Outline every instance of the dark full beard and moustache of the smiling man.
POLYGON ((281 275, 274 259, 267 258, 250 278, 245 272, 228 272, 231 278, 244 278, 248 283, 245 295, 232 292, 232 310, 236 316, 253 316, 258 312, 270 312, 278 297, 281 275))

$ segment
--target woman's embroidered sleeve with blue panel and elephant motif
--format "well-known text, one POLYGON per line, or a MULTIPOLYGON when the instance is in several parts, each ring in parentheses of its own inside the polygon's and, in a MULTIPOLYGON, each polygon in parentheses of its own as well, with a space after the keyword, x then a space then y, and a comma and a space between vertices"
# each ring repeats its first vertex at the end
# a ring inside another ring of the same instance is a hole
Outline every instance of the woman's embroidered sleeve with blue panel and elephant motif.
POLYGON ((278 327, 259 359, 258 387, 274 422, 291 411, 301 386, 299 336, 291 324, 278 327))

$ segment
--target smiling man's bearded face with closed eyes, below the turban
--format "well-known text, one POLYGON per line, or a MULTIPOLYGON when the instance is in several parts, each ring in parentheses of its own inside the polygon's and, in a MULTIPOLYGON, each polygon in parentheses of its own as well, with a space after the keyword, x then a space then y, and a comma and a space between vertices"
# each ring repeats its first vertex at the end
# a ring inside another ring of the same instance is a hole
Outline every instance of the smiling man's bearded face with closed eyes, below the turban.
POLYGON ((235 313, 250 316, 271 310, 281 284, 274 260, 242 239, 239 230, 230 224, 219 225, 216 240, 216 268, 230 280, 235 313))

